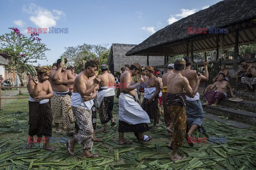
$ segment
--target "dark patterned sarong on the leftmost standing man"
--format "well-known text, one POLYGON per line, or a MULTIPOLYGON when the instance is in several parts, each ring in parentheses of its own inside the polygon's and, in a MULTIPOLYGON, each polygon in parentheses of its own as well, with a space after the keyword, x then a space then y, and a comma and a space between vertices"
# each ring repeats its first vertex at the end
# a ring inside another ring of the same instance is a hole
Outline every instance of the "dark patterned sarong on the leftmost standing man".
POLYGON ((39 104, 39 102, 28 101, 29 106, 29 136, 37 137, 52 136, 52 110, 50 103, 39 104))

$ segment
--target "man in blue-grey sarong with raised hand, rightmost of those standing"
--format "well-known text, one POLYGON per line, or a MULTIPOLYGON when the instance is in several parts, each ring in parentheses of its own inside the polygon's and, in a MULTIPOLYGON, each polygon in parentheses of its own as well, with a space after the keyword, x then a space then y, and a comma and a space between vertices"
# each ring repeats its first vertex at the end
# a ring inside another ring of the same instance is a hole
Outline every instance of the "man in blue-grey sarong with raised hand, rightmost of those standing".
MULTIPOLYGON (((189 86, 194 88, 196 86, 196 70, 191 70, 191 59, 188 56, 183 57, 186 61, 186 68, 182 75, 188 79, 189 86)), ((204 75, 202 75, 202 81, 207 81, 209 79, 208 73, 209 62, 204 62, 204 75)), ((192 133, 197 129, 202 127, 202 122, 204 118, 203 106, 200 100, 199 93, 196 92, 194 98, 186 96, 186 114, 188 123, 188 133, 187 136, 191 137, 192 133)), ((202 130, 203 131, 203 130, 202 130)), ((193 143, 188 142, 189 146, 194 146, 193 143)))

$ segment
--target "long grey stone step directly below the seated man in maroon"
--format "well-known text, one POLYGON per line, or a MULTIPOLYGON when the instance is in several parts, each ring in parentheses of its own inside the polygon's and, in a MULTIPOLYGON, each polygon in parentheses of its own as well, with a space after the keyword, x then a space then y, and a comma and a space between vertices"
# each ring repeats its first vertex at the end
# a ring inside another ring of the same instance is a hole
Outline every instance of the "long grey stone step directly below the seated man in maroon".
POLYGON ((250 125, 256 125, 256 113, 248 111, 238 111, 236 109, 225 107, 225 106, 203 106, 206 113, 218 115, 218 116, 228 116, 230 120, 237 122, 242 122, 250 125))

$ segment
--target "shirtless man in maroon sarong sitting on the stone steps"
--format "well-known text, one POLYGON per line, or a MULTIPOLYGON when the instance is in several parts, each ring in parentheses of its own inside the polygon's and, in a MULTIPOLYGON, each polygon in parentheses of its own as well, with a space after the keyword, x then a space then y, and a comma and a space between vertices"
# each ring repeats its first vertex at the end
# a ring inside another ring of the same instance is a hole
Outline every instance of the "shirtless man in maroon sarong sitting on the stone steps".
POLYGON ((229 82, 224 80, 225 74, 220 73, 218 77, 218 81, 216 81, 211 87, 211 90, 206 90, 204 93, 204 97, 206 99, 206 103, 203 105, 211 105, 211 106, 217 106, 219 101, 221 99, 225 99, 227 97, 227 90, 229 88, 231 96, 234 98, 236 97, 233 94, 233 90, 229 84, 229 82), (213 88, 216 88, 215 90, 212 90, 213 88))

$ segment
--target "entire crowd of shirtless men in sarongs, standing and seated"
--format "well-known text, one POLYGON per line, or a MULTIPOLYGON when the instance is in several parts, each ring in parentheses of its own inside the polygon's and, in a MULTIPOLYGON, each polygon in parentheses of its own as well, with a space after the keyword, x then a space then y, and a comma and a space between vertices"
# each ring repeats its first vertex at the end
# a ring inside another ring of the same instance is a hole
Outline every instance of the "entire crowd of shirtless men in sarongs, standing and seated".
MULTIPOLYGON (((248 83, 255 88, 256 63, 251 66, 241 61, 244 73, 250 73, 252 80, 242 78, 243 83, 248 83), (252 84, 251 82, 254 82, 252 84)), ((112 115, 116 86, 119 84, 118 97, 118 132, 119 145, 130 145, 132 142, 125 139, 125 132, 133 132, 139 142, 151 139, 146 133, 156 131, 157 123, 161 124, 162 106, 166 130, 172 138, 167 145, 172 149, 171 160, 180 160, 184 157, 178 155, 178 148, 182 146, 183 139, 192 136, 196 129, 204 131, 202 122, 204 118, 203 107, 198 94, 200 82, 209 79, 207 61, 204 62, 204 75, 191 70, 192 62, 188 56, 178 58, 169 64, 167 73, 160 78, 159 70, 152 66, 142 67, 138 63, 125 65, 121 68, 120 76, 114 72, 109 73, 108 65, 101 64, 101 73, 98 74, 99 61, 90 60, 84 65, 84 70, 76 74, 72 66, 66 68, 67 60, 62 63, 59 59, 50 70, 47 66, 37 67, 37 77, 31 78, 28 83, 29 90, 29 138, 45 135, 44 149, 54 151, 49 145, 52 136, 52 122, 55 124, 55 133, 72 136, 67 141, 67 151, 73 155, 75 144, 83 148, 83 157, 99 157, 92 154, 93 142, 100 142, 95 137, 97 110, 103 133, 108 132, 110 126, 116 125, 112 115), (153 126, 148 127, 150 120, 153 126), (62 127, 60 128, 60 123, 62 127), (75 131, 72 131, 73 125, 75 131)), ((227 96, 229 88, 232 97, 232 88, 228 82, 228 71, 221 66, 221 71, 213 79, 214 84, 206 90, 205 105, 216 106, 220 99, 227 96), (215 90, 211 90, 216 88, 215 90)), ((193 143, 188 143, 193 146, 193 143)), ((26 148, 33 147, 28 142, 26 148)))

